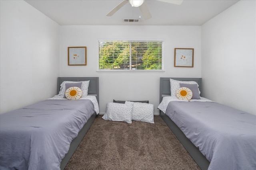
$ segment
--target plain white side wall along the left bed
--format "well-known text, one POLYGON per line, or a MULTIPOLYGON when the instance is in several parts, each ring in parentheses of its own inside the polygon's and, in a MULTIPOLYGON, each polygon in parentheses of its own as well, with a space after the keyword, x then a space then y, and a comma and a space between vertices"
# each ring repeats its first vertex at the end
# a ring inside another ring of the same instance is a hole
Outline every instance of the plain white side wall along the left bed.
POLYGON ((0 113, 56 94, 60 26, 23 0, 1 0, 0 113))

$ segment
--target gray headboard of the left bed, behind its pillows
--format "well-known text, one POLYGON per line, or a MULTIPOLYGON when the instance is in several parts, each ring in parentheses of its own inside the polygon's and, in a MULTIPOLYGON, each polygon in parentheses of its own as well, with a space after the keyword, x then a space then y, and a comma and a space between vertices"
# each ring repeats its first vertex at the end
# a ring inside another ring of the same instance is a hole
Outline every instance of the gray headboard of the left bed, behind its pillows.
POLYGON ((74 81, 74 82, 80 82, 80 81, 88 81, 89 88, 88 88, 88 95, 96 96, 97 101, 99 103, 99 78, 98 77, 58 77, 58 83, 57 83, 57 94, 59 94, 60 91, 60 84, 64 81, 74 81))

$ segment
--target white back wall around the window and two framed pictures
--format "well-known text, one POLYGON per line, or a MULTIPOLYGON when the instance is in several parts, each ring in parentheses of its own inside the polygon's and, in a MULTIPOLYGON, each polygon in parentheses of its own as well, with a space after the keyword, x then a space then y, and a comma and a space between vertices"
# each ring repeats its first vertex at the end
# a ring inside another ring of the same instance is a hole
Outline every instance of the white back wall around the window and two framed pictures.
POLYGON ((149 100, 159 113, 160 77, 201 77, 200 26, 82 25, 60 28, 60 76, 98 76, 100 113, 115 100, 149 100), (155 73, 99 73, 98 39, 164 39, 164 70, 155 73), (68 66, 68 47, 87 47, 87 66, 68 66), (174 48, 194 48, 194 68, 174 67, 174 48))

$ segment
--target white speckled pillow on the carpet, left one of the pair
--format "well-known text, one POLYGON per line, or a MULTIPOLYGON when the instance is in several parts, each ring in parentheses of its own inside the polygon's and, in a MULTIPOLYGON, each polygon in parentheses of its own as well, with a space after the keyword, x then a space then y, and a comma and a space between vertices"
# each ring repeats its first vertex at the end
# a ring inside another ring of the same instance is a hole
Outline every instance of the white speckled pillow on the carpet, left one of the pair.
POLYGON ((132 104, 108 103, 102 119, 132 123, 132 104))

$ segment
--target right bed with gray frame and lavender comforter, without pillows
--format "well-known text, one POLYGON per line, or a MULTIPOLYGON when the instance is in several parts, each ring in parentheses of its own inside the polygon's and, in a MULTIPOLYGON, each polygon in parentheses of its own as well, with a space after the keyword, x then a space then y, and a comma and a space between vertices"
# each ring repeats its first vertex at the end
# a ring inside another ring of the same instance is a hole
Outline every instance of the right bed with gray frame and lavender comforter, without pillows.
MULTIPOLYGON (((202 78, 195 81, 203 96, 202 78)), ((256 169, 256 116, 206 98, 185 102, 170 96, 170 78, 160 78, 160 116, 202 170, 256 169)))

